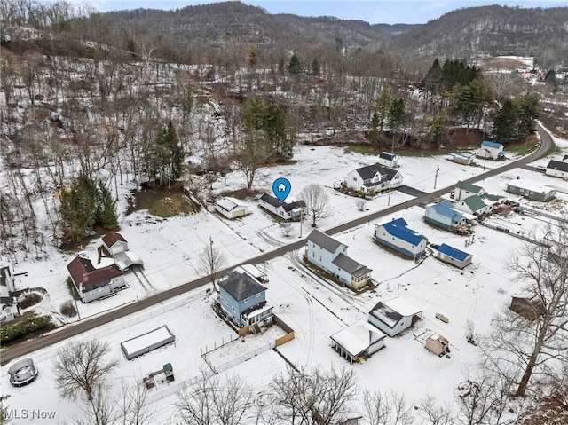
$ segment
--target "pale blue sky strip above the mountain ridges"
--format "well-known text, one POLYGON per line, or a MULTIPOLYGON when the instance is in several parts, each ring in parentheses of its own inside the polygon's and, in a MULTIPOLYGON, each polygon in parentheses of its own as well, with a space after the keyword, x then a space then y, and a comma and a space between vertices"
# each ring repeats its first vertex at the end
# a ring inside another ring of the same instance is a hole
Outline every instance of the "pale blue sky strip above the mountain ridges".
MULTIPOLYGON (((206 4, 212 1, 193 0, 71 0, 75 4, 91 4, 100 11, 120 9, 176 9, 190 4, 206 4)), ((568 0, 244 0, 243 3, 260 6, 270 13, 294 13, 302 16, 335 16, 344 20, 366 20, 376 23, 422 24, 434 20, 446 12, 461 7, 502 4, 520 7, 568 6, 568 0)))

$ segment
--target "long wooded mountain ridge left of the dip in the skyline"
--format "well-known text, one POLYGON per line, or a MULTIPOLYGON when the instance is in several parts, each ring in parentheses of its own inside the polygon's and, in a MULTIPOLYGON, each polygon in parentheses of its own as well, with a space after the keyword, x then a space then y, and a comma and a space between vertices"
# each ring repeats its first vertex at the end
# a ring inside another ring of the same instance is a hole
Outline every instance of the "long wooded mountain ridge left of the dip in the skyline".
POLYGON ((335 43, 339 48, 358 48, 400 34, 413 25, 370 25, 363 20, 339 20, 334 17, 301 17, 270 14, 241 2, 187 6, 162 11, 136 9, 106 14, 119 22, 143 25, 154 32, 173 37, 178 43, 225 44, 233 38, 256 46, 288 48, 311 43, 335 43))

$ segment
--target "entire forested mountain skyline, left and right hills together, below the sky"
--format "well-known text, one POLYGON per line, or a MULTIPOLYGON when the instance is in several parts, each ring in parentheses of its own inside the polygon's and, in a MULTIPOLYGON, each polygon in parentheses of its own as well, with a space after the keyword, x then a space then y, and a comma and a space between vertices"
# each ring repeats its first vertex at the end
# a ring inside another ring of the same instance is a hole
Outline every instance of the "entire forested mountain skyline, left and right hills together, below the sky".
POLYGON ((184 44, 221 45, 238 39, 240 43, 269 48, 335 44, 341 49, 368 48, 450 59, 535 56, 544 67, 563 65, 562 59, 568 60, 568 7, 520 8, 493 4, 457 9, 423 25, 370 25, 363 20, 329 16, 270 14, 241 2, 187 6, 172 11, 117 11, 106 13, 106 17, 115 25, 146 26, 184 44))

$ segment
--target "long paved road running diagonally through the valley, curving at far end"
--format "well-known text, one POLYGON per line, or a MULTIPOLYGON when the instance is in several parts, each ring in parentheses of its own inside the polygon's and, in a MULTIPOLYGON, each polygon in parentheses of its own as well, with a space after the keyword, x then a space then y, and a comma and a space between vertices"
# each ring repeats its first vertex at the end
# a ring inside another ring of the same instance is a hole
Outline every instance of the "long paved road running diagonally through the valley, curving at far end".
MULTIPOLYGON (((525 156, 524 158, 521 158, 517 161, 510 161, 507 162, 505 164, 503 164, 503 166, 501 166, 498 169, 490 169, 487 170, 485 173, 480 174, 476 177, 471 177, 467 180, 464 180, 464 182, 466 183, 475 183, 479 180, 483 180, 487 177, 493 177, 496 176, 498 174, 501 174, 503 171, 509 171, 510 169, 516 169, 518 167, 524 167, 526 166, 526 164, 528 164, 529 162, 538 160, 540 157, 545 156, 546 154, 548 154, 548 152, 550 152, 553 148, 553 143, 552 143, 552 138, 550 137, 550 135, 548 134, 547 130, 545 130, 544 128, 542 128, 540 126, 540 124, 537 125, 537 131, 539 133, 540 136, 540 146, 539 148, 534 151, 533 153, 525 156)), ((377 211, 371 214, 367 214, 367 216, 361 216, 355 220, 352 220, 348 223, 344 223, 344 224, 340 224, 337 225, 329 230, 327 230, 327 234, 336 234, 336 233, 340 233, 340 232, 344 232, 348 229, 351 229, 353 227, 357 227, 361 224, 366 224, 368 221, 370 220, 375 220, 376 218, 380 218, 382 216, 388 216, 390 214, 392 214, 393 212, 399 211, 401 209, 407 209, 409 207, 413 207, 414 205, 418 205, 418 204, 423 204, 423 203, 427 203, 427 202, 431 202, 434 201, 435 199, 437 199, 439 196, 443 195, 444 193, 448 193, 450 191, 452 191, 454 189, 454 185, 451 186, 447 186, 444 188, 439 189, 438 191, 432 192, 432 193, 428 193, 424 196, 418 197, 418 198, 414 198, 413 200, 410 201, 406 201, 403 203, 400 203, 398 205, 393 205, 392 207, 389 207, 387 209, 382 209, 381 211, 377 211)), ((306 229, 306 233, 307 233, 306 229)), ((307 236, 307 235, 306 235, 307 236)), ((278 256, 282 256, 290 251, 294 251, 298 248, 302 248, 305 244, 305 238, 303 239, 299 239, 296 240, 296 242, 285 245, 283 247, 274 249, 270 252, 264 253, 260 256, 256 256, 252 259, 247 260, 246 262, 243 263, 263 263, 264 261, 268 261, 268 260, 272 260, 273 258, 276 258, 278 256)), ((227 272, 230 272, 231 270, 233 270, 234 266, 231 267, 227 267, 225 268, 225 270, 222 270, 219 272, 219 275, 224 275, 227 272)), ((51 333, 51 334, 46 334, 43 336, 40 336, 36 339, 32 339, 32 340, 28 340, 25 342, 21 342, 20 344, 14 345, 9 349, 5 349, 2 350, 1 354, 1 358, 0 358, 0 363, 4 366, 5 364, 7 364, 8 362, 12 361, 12 359, 14 358, 19 358, 20 356, 25 356, 35 350, 40 350, 43 349, 45 347, 48 347, 51 344, 54 344, 56 342, 61 342, 61 341, 65 341, 67 340, 67 338, 70 338, 72 336, 75 336, 77 334, 82 334, 83 332, 86 331, 90 331, 91 329, 95 328, 95 327, 100 327, 102 325, 106 325, 107 323, 110 323, 114 320, 117 319, 122 319, 132 313, 136 313, 138 311, 142 311, 145 310, 148 307, 152 307, 157 303, 162 303, 164 301, 169 300, 170 298, 177 296, 177 295, 183 295, 186 292, 189 292, 197 287, 202 287, 203 285, 206 285, 209 283, 209 279, 208 278, 200 278, 200 279, 195 279, 192 280, 191 282, 187 282, 184 285, 181 285, 179 287, 173 287, 171 289, 168 289, 167 291, 161 292, 159 294, 156 295, 152 295, 149 296, 147 298, 144 298, 136 303, 131 303, 128 305, 125 305, 124 307, 118 308, 114 311, 109 311, 105 314, 102 314, 96 318, 92 318, 92 319, 85 319, 85 320, 81 320, 75 324, 72 325, 67 325, 66 327, 62 327, 59 330, 51 333)))

